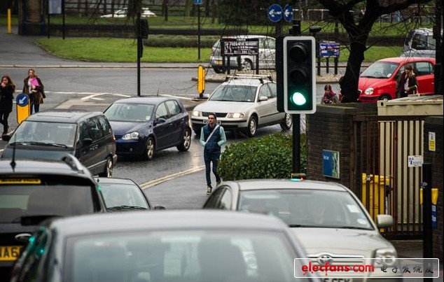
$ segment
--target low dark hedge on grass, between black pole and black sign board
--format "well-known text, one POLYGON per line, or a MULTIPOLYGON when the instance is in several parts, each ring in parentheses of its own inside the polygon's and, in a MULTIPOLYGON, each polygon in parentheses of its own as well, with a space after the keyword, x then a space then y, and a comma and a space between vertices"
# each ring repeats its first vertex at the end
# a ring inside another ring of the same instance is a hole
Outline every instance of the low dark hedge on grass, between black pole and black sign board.
MULTIPOLYGON (((220 36, 200 36, 200 47, 211 48, 220 36)), ((185 35, 150 35, 144 39, 145 46, 151 47, 194 47, 197 48, 197 36, 185 35)))

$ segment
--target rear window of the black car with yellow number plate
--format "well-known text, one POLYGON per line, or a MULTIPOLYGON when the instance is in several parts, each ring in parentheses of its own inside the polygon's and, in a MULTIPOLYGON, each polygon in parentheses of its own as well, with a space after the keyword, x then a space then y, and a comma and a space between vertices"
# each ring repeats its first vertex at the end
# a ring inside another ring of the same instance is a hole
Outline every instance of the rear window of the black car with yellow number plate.
POLYGON ((92 203, 88 185, 48 185, 39 178, 21 180, 20 183, 17 178, 1 179, 0 182, 0 223, 20 223, 22 216, 92 213, 92 203))

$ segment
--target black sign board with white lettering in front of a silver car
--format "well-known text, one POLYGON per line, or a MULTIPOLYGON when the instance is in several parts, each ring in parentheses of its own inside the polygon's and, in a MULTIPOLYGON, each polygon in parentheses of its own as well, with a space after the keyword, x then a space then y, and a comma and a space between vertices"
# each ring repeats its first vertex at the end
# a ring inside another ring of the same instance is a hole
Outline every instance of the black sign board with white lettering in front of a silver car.
POLYGON ((223 38, 221 39, 221 46, 222 56, 259 54, 258 38, 223 38))

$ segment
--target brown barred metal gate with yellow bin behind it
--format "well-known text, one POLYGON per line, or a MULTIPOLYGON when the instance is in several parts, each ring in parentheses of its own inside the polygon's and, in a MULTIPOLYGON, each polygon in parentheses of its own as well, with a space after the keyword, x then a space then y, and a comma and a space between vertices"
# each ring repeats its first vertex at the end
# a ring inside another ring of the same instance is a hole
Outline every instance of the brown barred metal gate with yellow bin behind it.
POLYGON ((422 167, 408 167, 409 155, 424 155, 425 116, 356 116, 353 122, 354 192, 373 220, 389 214, 389 239, 419 239, 422 167))

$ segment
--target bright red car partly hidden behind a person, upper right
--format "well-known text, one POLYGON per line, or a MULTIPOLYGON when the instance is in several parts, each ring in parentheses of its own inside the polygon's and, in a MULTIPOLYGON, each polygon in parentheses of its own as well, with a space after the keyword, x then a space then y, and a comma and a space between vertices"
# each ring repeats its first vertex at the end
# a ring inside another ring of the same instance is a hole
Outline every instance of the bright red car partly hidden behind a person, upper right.
POLYGON ((403 73, 406 64, 413 66, 413 72, 418 80, 418 93, 433 94, 435 58, 394 57, 380 59, 361 73, 358 84, 361 94, 358 100, 376 103, 377 100, 396 99, 396 80, 403 73))

